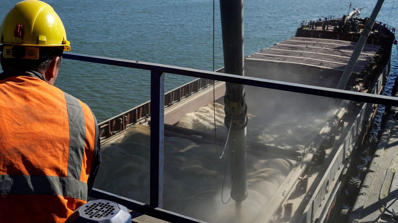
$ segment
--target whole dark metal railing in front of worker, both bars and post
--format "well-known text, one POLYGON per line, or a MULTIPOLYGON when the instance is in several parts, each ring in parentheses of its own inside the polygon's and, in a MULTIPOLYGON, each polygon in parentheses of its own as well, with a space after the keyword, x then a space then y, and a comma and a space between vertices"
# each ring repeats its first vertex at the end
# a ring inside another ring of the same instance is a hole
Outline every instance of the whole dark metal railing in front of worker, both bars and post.
MULTIPOLYGON (((163 199, 163 154, 164 154, 164 73, 196 77, 215 81, 224 81, 254 87, 283 90, 302 94, 311 94, 329 98, 339 98, 343 100, 352 100, 371 104, 382 104, 387 106, 398 106, 398 98, 378 94, 367 94, 349 90, 339 90, 334 88, 317 87, 312 85, 302 85, 283 81, 273 81, 255 77, 244 77, 231 75, 227 73, 217 73, 214 71, 205 71, 191 69, 186 67, 177 67, 163 65, 159 63, 140 62, 136 60, 123 60, 117 58, 108 58, 101 56, 90 56, 84 54, 65 53, 65 59, 78 60, 83 62, 100 63, 114 65, 119 67, 130 67, 150 71, 150 202, 144 204, 129 198, 112 194, 103 190, 94 188, 90 197, 97 199, 106 199, 117 202, 137 211, 141 214, 155 217, 169 222, 203 222, 198 219, 187 217, 179 213, 164 210, 162 208, 163 199)), ((149 74, 149 72, 148 72, 149 74)))

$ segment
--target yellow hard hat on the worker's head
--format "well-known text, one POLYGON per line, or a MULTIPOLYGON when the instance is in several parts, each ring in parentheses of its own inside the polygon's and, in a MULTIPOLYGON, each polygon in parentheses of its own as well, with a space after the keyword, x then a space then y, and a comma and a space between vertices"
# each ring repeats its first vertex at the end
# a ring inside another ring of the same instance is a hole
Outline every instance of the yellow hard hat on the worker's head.
POLYGON ((0 43, 15 46, 62 47, 70 50, 61 19, 53 8, 38 0, 17 3, 4 17, 0 43))

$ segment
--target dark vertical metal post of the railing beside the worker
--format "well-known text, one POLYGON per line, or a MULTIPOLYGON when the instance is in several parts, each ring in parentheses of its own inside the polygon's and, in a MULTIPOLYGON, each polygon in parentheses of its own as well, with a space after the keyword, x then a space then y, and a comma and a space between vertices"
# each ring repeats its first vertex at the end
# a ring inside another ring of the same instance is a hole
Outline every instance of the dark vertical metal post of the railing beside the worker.
POLYGON ((150 206, 163 205, 164 73, 150 77, 150 206))

